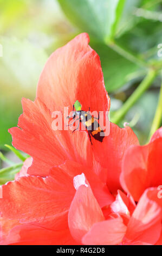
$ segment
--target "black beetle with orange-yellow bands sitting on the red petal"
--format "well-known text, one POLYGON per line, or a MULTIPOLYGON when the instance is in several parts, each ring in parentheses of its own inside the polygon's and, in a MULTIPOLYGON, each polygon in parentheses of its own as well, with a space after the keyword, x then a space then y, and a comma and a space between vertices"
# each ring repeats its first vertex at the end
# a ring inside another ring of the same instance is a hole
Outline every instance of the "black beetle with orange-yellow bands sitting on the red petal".
MULTIPOLYGON (((90 111, 90 108, 89 108, 89 111, 90 111)), ((104 138, 104 132, 99 125, 99 116, 98 116, 98 118, 93 117, 89 113, 89 111, 83 111, 81 109, 80 102, 76 101, 73 105, 73 115, 67 117, 67 118, 73 118, 73 119, 76 118, 76 119, 68 126, 72 126, 75 123, 75 121, 79 120, 78 125, 74 131, 78 130, 79 124, 82 123, 86 127, 86 130, 88 131, 88 135, 89 135, 91 144, 92 144, 92 141, 91 141, 90 136, 92 136, 97 141, 102 142, 103 138, 104 138), (74 107, 76 109, 75 111, 74 111, 74 107), (102 136, 101 136, 101 132, 102 132, 102 136)), ((100 114, 100 112, 99 112, 99 114, 100 114)))

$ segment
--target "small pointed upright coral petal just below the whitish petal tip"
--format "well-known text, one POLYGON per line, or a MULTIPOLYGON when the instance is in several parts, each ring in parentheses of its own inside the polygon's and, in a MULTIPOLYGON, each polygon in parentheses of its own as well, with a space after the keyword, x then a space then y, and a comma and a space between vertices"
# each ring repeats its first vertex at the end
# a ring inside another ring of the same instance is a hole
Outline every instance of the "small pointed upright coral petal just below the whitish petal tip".
POLYGON ((103 220, 105 218, 89 184, 88 186, 81 185, 75 193, 69 210, 70 233, 76 241, 81 242, 83 235, 89 231, 92 225, 103 220))

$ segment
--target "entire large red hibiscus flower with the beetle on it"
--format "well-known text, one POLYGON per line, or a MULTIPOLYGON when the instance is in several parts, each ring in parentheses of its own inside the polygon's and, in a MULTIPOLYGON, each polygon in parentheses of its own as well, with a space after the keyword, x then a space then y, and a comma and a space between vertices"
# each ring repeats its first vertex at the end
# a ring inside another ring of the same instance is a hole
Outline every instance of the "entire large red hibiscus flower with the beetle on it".
POLYGON ((76 100, 85 111, 90 107, 106 116, 109 110, 100 59, 88 42, 88 35, 80 34, 55 51, 35 101, 22 101, 19 127, 10 133, 14 147, 32 158, 15 181, 2 186, 1 244, 160 243, 157 188, 141 193, 137 205, 119 190, 124 154, 130 145, 139 147, 131 128, 111 123, 109 136, 102 142, 92 138, 91 144, 87 131, 51 127, 52 113, 72 111, 76 100))

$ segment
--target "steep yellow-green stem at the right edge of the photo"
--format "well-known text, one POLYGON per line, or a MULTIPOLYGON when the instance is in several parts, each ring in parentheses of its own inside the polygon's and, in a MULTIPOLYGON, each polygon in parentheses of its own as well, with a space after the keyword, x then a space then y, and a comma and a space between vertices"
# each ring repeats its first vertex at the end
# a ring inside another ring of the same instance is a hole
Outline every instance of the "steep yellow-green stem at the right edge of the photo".
POLYGON ((161 119, 162 119, 162 84, 160 88, 158 106, 155 111, 154 119, 151 126, 149 140, 152 137, 153 133, 160 127, 161 119))

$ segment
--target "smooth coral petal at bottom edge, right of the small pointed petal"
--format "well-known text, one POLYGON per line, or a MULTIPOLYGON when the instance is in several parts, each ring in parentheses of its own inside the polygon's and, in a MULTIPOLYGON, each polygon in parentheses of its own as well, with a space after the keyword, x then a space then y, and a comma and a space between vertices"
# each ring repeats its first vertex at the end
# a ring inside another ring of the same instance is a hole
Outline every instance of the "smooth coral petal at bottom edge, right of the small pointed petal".
POLYGON ((83 236, 84 245, 119 245, 125 235, 127 227, 122 218, 112 218, 95 223, 89 232, 83 236))

